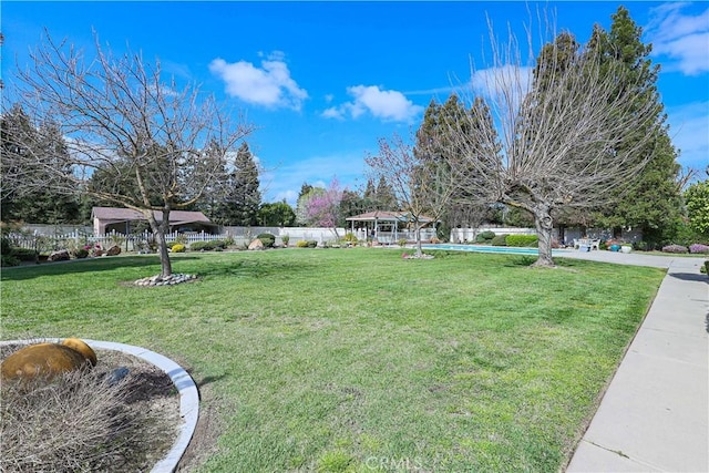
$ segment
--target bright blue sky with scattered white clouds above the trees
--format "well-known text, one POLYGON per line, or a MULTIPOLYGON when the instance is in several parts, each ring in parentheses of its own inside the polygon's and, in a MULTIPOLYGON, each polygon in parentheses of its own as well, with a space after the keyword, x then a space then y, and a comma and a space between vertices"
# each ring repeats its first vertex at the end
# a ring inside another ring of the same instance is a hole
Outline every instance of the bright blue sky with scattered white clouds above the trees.
POLYGON ((240 110, 264 167, 265 202, 295 203, 304 182, 366 183, 377 140, 418 128, 432 99, 445 101, 482 69, 490 18, 522 34, 537 7, 556 31, 585 42, 624 4, 654 45, 674 144, 685 166, 709 162, 707 2, 34 2, 2 1, 2 76, 27 61, 47 28, 91 51, 92 29, 114 52, 158 58, 166 74, 240 110))

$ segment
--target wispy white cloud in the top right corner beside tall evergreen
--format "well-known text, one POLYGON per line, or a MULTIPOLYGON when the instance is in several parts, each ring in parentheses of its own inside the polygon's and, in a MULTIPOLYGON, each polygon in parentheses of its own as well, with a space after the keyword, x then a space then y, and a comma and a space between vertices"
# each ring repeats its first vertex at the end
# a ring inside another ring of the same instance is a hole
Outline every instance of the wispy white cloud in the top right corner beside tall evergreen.
POLYGON ((645 34, 653 43, 653 55, 675 61, 668 70, 698 75, 709 72, 709 8, 692 17, 681 13, 685 6, 665 3, 653 9, 645 34))

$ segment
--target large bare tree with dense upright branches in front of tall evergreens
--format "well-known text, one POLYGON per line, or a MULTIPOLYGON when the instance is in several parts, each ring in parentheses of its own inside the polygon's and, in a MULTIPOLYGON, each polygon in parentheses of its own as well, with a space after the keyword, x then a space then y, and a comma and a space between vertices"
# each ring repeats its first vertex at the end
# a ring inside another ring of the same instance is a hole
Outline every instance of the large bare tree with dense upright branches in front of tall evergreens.
POLYGON ((490 31, 492 68, 473 69, 484 92, 467 97, 471 123, 450 125, 451 166, 467 195, 531 213, 535 265, 554 266, 554 213, 617 196, 610 191, 627 186, 651 157, 649 138, 661 120, 657 104, 617 85, 620 66, 579 49, 571 34, 546 44, 528 68, 514 38, 501 45, 490 31))

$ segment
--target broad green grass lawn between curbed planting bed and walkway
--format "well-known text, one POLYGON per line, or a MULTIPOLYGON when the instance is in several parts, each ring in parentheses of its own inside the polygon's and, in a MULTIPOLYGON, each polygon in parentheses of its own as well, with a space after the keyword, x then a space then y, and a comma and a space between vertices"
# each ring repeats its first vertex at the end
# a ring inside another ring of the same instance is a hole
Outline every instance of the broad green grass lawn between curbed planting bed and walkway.
POLYGON ((562 469, 664 271, 525 256, 289 249, 2 271, 2 338, 173 358, 220 419, 202 471, 562 469))

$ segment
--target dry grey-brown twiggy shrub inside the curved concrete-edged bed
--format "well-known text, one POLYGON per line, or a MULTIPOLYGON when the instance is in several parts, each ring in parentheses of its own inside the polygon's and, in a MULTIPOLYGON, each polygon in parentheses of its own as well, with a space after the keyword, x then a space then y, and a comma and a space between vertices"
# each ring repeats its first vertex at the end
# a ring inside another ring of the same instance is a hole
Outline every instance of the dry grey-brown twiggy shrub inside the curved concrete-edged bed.
POLYGON ((112 380, 112 366, 0 387, 0 471, 146 471, 175 432, 141 405, 144 372, 112 380))

